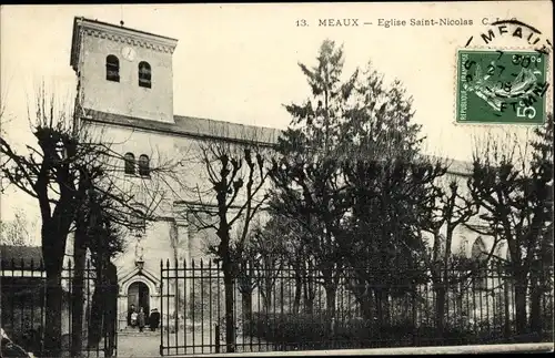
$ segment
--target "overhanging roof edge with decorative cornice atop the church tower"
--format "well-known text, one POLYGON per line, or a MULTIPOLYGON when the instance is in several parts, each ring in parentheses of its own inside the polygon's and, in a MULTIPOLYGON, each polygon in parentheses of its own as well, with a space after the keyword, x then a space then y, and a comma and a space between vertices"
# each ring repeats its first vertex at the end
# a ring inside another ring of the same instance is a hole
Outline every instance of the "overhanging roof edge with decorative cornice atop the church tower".
POLYGON ((127 42, 127 43, 138 43, 149 48, 160 49, 164 52, 173 53, 173 50, 178 45, 178 40, 169 37, 163 37, 160 34, 154 34, 145 31, 140 31, 135 29, 124 28, 123 25, 117 25, 108 22, 102 22, 98 20, 91 20, 83 17, 75 17, 73 19, 73 37, 71 40, 71 59, 70 65, 77 71, 79 51, 82 31, 87 30, 91 34, 108 38, 115 41, 127 42))

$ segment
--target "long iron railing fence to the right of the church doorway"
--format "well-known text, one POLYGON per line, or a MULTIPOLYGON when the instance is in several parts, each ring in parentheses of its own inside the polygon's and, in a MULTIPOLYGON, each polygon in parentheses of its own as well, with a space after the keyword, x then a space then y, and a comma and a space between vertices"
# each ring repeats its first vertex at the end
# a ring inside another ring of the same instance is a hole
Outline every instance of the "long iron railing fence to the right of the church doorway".
MULTIPOLYGON (((447 277, 442 284, 426 270, 392 277, 385 270, 353 268, 329 277, 310 266, 246 265, 236 272, 231 287, 234 350, 501 344, 536 341, 553 333, 553 279, 528 287, 528 319, 535 304, 542 325, 518 337, 515 285, 505 270, 450 269, 447 277), (539 295, 531 295, 532 288, 539 295)), ((160 354, 225 352, 220 265, 165 262, 161 278, 160 354)))

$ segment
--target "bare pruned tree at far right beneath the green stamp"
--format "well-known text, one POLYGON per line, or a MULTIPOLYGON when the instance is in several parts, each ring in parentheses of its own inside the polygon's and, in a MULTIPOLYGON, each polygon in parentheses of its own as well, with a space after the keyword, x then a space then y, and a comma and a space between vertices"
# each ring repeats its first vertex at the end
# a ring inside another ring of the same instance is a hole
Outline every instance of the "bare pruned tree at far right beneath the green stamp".
MULTIPOLYGON (((549 117, 547 127, 553 125, 552 121, 549 117)), ((516 330, 522 335, 527 329, 531 270, 553 225, 553 201, 549 200, 553 197, 553 146, 543 151, 534 149, 528 139, 523 143, 508 135, 506 140, 490 136, 485 143, 478 143, 468 187, 472 198, 485 212, 482 219, 487 225, 481 232, 507 243, 507 268, 515 283, 516 330)), ((553 134, 545 135, 544 140, 553 143, 553 134)))

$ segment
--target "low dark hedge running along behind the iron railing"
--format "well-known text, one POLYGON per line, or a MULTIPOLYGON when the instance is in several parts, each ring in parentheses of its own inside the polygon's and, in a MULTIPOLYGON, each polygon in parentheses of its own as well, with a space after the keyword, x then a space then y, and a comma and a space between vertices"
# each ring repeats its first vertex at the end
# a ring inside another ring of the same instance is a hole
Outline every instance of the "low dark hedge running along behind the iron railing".
POLYGON ((473 327, 455 321, 447 323, 442 336, 433 325, 415 326, 408 319, 379 325, 377 320, 352 318, 330 325, 324 316, 264 313, 253 313, 252 319, 244 323, 244 334, 303 349, 470 345, 503 340, 502 327, 473 327))

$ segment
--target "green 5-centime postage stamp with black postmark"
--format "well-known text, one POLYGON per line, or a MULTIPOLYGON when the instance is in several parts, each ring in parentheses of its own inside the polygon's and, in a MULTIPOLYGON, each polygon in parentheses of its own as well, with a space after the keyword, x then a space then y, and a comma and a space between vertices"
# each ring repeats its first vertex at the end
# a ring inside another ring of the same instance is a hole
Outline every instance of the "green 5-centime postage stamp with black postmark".
POLYGON ((536 51, 458 50, 456 122, 544 123, 547 62, 536 51))

